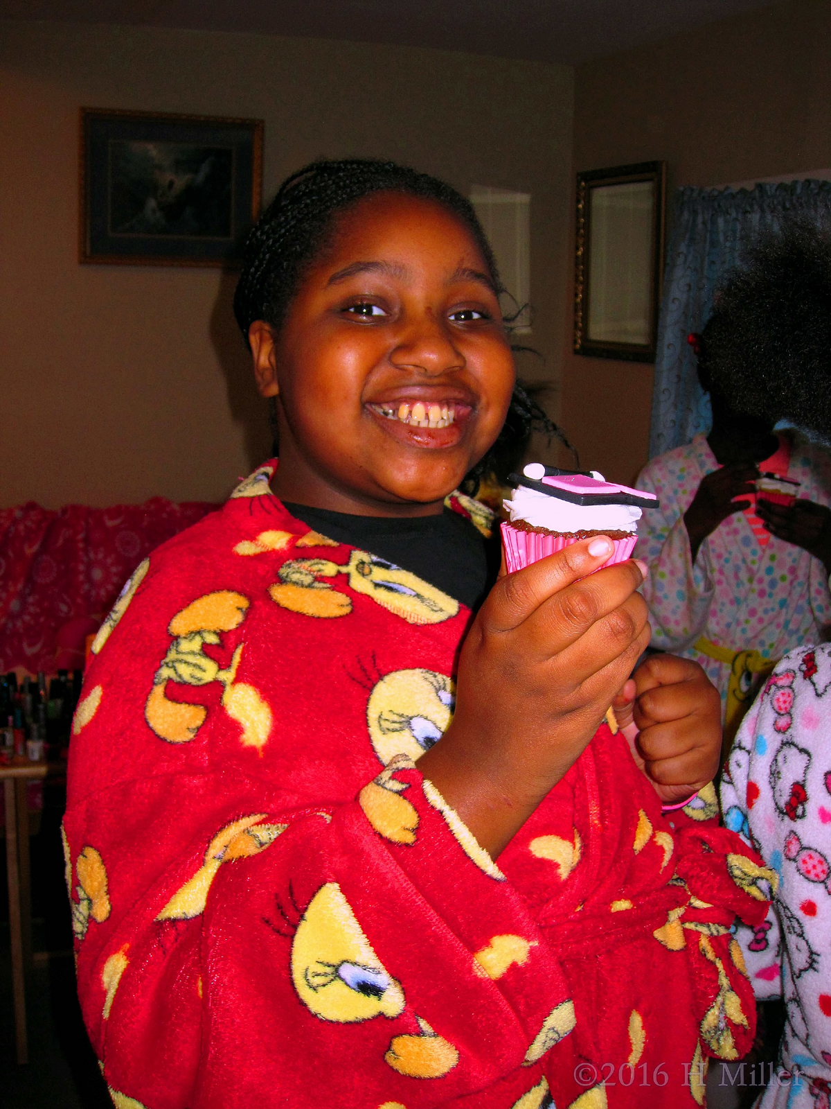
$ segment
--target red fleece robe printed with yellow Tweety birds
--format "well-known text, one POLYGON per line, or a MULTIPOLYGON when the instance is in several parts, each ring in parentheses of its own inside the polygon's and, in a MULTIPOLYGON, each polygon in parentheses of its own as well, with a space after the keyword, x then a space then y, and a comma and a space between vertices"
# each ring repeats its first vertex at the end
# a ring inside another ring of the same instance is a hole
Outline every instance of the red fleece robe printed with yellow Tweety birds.
POLYGON ((706 1056, 751 1042, 730 927, 769 872, 711 793, 670 826, 605 724, 494 864, 414 763, 470 611, 294 519, 274 465, 138 567, 73 724, 79 989, 115 1103, 701 1105, 706 1056))

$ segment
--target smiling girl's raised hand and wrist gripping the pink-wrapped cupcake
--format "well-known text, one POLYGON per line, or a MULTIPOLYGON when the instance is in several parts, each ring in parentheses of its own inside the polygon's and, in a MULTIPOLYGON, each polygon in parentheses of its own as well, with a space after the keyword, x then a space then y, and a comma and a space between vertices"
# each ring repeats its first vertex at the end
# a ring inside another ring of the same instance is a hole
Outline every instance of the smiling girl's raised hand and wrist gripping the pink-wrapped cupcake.
POLYGON ((594 537, 503 574, 462 648, 453 721, 419 770, 492 857, 579 757, 649 642, 645 567, 594 573, 612 552, 594 537))

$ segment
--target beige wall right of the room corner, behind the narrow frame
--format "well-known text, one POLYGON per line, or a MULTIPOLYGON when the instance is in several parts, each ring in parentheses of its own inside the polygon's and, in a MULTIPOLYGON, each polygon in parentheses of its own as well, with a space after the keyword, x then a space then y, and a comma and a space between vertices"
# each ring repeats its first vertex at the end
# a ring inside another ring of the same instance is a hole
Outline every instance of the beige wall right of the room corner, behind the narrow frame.
MULTIPOLYGON (((671 211, 679 185, 831 165, 830 48, 831 4, 789 0, 584 64, 574 169, 666 159, 671 211)), ((653 367, 574 355, 572 319, 570 295, 563 425, 584 465, 628 480, 647 458, 653 367)))

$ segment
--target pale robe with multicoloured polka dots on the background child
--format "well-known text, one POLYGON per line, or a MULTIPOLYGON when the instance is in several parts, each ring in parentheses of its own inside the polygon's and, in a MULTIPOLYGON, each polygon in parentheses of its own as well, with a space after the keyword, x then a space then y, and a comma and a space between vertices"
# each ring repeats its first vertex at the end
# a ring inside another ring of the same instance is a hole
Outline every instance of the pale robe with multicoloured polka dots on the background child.
MULTIPOLYGON (((774 536, 762 549, 743 512, 722 521, 693 562, 684 513, 701 479, 716 469, 702 435, 644 467, 637 488, 657 494, 660 507, 644 511, 634 557, 649 567, 642 592, 652 645, 699 662, 724 703, 730 668, 699 653, 694 645, 699 637, 779 659, 800 643, 827 638, 831 593, 819 559, 774 536)), ((831 505, 831 455, 798 435, 788 477, 801 484, 800 498, 831 505)))

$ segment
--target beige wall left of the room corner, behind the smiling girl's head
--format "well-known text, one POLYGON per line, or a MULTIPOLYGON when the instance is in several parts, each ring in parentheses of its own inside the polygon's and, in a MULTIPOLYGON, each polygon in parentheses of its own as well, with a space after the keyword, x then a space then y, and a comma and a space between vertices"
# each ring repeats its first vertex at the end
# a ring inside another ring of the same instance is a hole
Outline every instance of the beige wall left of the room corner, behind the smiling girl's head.
MULTIPOLYGON (((0 506, 222 498, 268 448, 215 269, 80 266, 78 110, 265 119, 265 196, 318 155, 532 194, 533 342, 564 343, 573 74, 381 45, 0 22, 0 506)), ((556 399, 550 405, 556 408, 556 399)))

